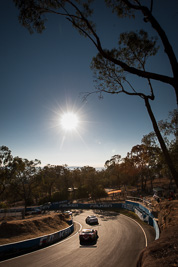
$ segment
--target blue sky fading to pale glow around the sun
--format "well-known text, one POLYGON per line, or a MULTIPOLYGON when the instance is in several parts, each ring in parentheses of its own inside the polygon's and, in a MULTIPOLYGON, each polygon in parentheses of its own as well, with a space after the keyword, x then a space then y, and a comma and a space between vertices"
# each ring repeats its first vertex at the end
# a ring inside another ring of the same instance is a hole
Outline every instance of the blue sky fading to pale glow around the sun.
MULTIPOLYGON (((178 1, 154 1, 153 14, 177 55, 178 1)), ((102 0, 97 0, 94 19, 105 48, 116 47, 124 31, 146 27, 156 35, 140 17, 120 21, 102 0)), ((113 155, 125 157, 153 131, 144 102, 137 97, 107 94, 100 100, 92 94, 82 100, 84 92, 95 90, 90 64, 97 50, 65 18, 50 15, 46 30, 31 35, 19 23, 12 0, 0 0, 0 20, 0 146, 7 146, 14 157, 38 159, 41 166, 102 168, 113 155), (71 131, 60 122, 67 112, 78 117, 71 131)), ((171 75, 162 47, 148 70, 171 75)), ((144 85, 134 77, 133 83, 137 88, 144 85)), ((176 108, 175 93, 160 82, 153 86, 151 106, 159 121, 176 108)))

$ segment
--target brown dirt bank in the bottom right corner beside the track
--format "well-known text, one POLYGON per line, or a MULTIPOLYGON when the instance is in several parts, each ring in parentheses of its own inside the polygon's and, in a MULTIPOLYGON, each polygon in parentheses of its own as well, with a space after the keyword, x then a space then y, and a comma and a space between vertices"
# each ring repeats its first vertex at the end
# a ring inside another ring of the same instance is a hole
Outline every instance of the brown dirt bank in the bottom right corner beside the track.
POLYGON ((160 238, 145 248, 137 267, 178 266, 178 200, 157 205, 160 238))

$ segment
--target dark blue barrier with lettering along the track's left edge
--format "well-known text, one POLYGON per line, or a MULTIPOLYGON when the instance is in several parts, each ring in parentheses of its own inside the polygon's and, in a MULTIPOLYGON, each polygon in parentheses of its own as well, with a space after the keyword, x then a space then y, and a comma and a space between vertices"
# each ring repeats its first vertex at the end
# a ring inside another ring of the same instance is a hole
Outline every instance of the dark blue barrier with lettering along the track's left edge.
POLYGON ((53 234, 28 239, 17 243, 2 245, 0 246, 0 259, 4 259, 13 255, 18 255, 27 251, 32 251, 35 249, 39 249, 43 246, 53 244, 69 236, 73 231, 74 225, 72 224, 68 228, 55 232, 53 234))

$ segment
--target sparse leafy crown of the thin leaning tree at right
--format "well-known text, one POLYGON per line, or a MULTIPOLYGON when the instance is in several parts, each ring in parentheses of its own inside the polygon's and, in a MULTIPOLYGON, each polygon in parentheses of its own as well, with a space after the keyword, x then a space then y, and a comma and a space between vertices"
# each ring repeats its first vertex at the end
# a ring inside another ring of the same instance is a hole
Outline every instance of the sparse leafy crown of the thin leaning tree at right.
POLYGON ((123 59, 127 65, 145 70, 147 59, 155 55, 157 51, 156 38, 149 38, 148 33, 143 30, 120 34, 118 48, 105 50, 105 53, 109 54, 109 58, 98 53, 92 60, 91 68, 95 75, 94 82, 100 95, 103 93, 125 93, 141 98, 147 96, 153 100, 154 94, 150 82, 148 82, 151 89, 150 94, 145 95, 143 88, 139 92, 138 88, 133 87, 133 82, 131 82, 133 77, 129 76, 129 81, 127 72, 110 58, 123 59))

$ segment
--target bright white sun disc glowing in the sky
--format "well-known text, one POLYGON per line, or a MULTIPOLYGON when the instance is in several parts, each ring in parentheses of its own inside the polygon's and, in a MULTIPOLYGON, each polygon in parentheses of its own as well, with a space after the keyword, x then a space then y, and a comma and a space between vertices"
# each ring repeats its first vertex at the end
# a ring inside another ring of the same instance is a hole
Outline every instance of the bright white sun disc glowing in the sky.
POLYGON ((73 112, 64 113, 60 118, 60 124, 66 131, 76 130, 78 123, 78 116, 73 112))

